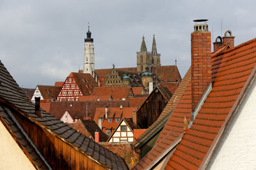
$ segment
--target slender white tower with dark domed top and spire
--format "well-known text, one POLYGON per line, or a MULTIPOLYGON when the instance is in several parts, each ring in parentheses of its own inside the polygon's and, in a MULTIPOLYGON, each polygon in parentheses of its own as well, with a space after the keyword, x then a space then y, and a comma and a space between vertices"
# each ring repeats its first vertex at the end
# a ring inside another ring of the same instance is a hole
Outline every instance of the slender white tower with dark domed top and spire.
POLYGON ((92 32, 90 32, 90 26, 88 26, 88 32, 86 32, 87 38, 84 38, 84 67, 83 73, 90 73, 94 77, 94 46, 93 38, 91 38, 92 32))

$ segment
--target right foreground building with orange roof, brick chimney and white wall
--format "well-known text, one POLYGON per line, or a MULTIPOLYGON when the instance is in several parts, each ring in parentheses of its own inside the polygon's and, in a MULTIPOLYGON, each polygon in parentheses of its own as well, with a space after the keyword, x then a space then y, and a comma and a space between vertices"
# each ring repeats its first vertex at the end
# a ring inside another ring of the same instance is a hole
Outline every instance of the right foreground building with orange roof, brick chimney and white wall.
POLYGON ((205 21, 195 20, 191 33, 189 83, 153 148, 133 169, 255 167, 250 122, 256 109, 256 39, 232 46, 234 38, 226 34, 231 42, 211 53, 205 21))

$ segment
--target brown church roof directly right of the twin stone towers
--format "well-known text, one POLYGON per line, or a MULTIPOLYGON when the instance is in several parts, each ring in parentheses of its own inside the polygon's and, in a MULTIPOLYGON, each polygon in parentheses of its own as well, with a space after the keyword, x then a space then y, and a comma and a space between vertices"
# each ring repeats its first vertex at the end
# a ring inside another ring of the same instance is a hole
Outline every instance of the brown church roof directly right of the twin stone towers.
POLYGON ((181 81, 181 76, 177 66, 152 66, 152 73, 161 81, 181 81))

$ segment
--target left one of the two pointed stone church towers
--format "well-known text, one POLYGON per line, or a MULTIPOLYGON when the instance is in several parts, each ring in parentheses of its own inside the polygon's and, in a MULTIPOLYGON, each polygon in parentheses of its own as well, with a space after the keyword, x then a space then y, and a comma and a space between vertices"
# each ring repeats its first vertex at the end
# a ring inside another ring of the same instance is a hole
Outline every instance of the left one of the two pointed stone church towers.
POLYGON ((137 52, 137 71, 145 72, 146 66, 150 67, 152 65, 151 58, 151 53, 147 52, 147 46, 145 43, 145 38, 143 36, 140 52, 137 52))

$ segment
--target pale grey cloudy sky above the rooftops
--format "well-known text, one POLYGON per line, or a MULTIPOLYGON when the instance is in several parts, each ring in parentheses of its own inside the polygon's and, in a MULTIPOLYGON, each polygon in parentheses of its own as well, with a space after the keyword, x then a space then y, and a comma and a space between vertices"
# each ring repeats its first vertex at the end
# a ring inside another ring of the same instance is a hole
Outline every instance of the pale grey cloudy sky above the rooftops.
POLYGON ((142 36, 156 35, 161 65, 191 65, 193 20, 208 19, 212 41, 231 30, 235 45, 255 38, 255 1, 0 0, 0 60, 20 87, 54 85, 83 68, 84 38, 94 39, 95 68, 136 67, 142 36), (246 3, 245 3, 246 2, 246 3), (222 32, 222 34, 221 34, 222 32))

